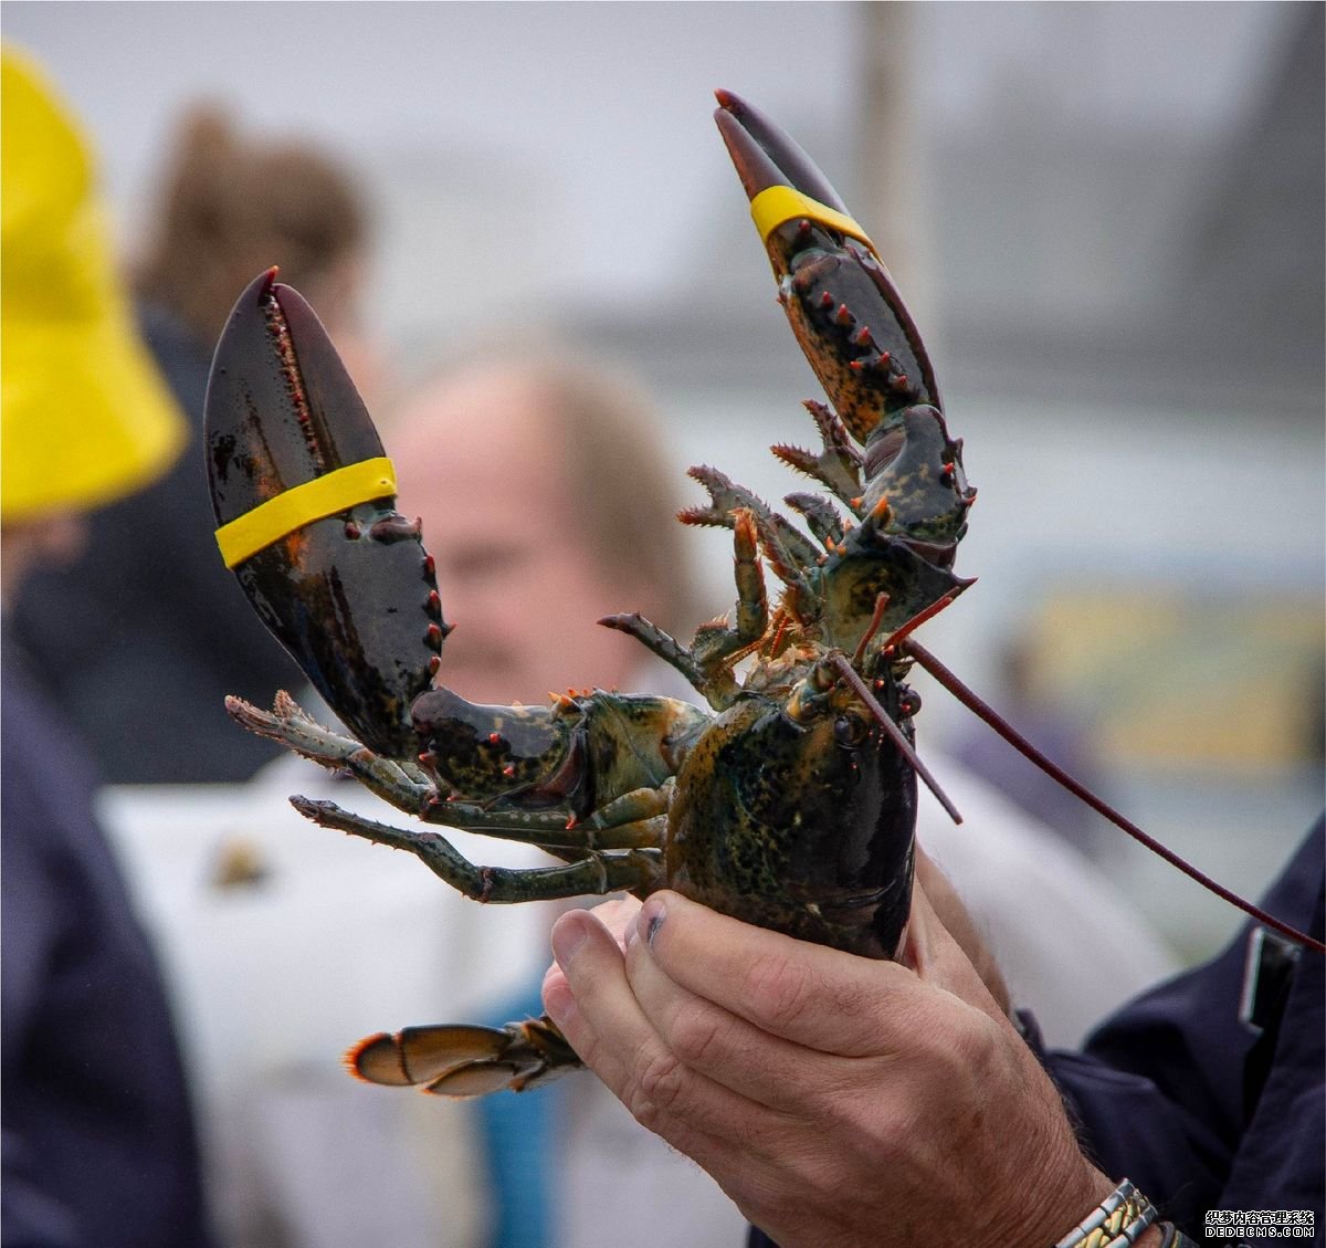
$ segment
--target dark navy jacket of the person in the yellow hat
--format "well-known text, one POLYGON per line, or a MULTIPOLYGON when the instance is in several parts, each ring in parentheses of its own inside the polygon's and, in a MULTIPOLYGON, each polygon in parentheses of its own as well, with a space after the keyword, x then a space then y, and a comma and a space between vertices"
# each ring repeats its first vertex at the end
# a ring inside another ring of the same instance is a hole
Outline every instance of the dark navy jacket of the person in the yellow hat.
POLYGON ((207 1248, 188 1088, 77 741, 0 663, 4 1248, 207 1248))

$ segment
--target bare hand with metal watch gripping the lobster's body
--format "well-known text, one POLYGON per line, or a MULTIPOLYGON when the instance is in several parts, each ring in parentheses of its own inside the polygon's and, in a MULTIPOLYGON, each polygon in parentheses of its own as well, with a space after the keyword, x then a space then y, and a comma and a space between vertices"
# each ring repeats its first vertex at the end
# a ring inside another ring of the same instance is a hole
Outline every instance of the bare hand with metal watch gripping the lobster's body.
POLYGON ((784 1248, 1044 1248, 1113 1188, 923 886, 907 966, 675 893, 634 923, 631 908, 558 919, 545 1007, 627 1109, 784 1248))

